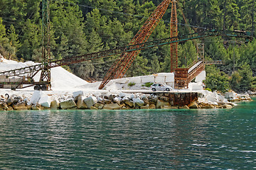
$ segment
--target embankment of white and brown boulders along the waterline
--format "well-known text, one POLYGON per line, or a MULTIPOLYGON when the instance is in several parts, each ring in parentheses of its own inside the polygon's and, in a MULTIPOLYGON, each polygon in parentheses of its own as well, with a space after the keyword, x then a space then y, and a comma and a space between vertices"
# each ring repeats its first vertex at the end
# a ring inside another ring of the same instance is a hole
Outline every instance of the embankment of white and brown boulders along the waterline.
MULTIPOLYGON (((249 100, 250 98, 244 98, 249 100)), ((235 104, 228 102, 226 98, 212 92, 198 94, 196 100, 184 106, 174 106, 171 96, 165 94, 98 94, 84 95, 83 91, 73 92, 68 98, 57 98, 54 95, 45 94, 43 91, 34 91, 30 99, 12 95, 1 96, 0 111, 23 110, 57 110, 57 109, 189 109, 189 108, 233 108, 235 104)))

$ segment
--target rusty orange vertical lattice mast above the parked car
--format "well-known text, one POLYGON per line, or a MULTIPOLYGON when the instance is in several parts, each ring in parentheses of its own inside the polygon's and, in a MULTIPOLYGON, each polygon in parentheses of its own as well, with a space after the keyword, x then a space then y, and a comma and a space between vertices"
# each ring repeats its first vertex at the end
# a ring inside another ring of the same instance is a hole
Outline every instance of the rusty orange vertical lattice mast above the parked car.
MULTIPOLYGON (((176 10, 176 0, 171 2, 171 38, 178 40, 178 19, 176 10)), ((178 67, 178 42, 171 43, 171 72, 175 72, 178 67)))

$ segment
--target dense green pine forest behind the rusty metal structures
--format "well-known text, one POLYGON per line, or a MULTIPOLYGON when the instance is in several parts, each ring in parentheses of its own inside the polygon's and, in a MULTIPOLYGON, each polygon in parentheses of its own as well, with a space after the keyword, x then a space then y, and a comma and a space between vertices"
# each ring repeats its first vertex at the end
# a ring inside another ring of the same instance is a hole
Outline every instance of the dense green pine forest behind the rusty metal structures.
MULTIPOLYGON (((161 0, 50 1, 51 58, 57 60, 127 45, 160 3, 161 0)), ((180 0, 177 7, 179 34, 193 33, 201 28, 253 30, 254 7, 252 0, 180 0)), ((1 55, 12 60, 42 61, 41 8, 40 0, 0 0, 1 55)), ((149 40, 169 37, 170 13, 171 6, 149 40)), ((230 38, 206 38, 182 43, 178 46, 179 67, 186 67, 196 60, 195 42, 205 43, 206 58, 226 63, 218 66, 225 74, 208 72, 209 79, 226 81, 223 77, 231 77, 231 88, 237 91, 250 89, 251 74, 256 73, 256 40, 245 44, 230 38), (217 77, 217 74, 222 76, 217 77)), ((82 79, 100 80, 117 57, 72 64, 66 68, 82 79)), ((169 46, 144 50, 134 60, 127 76, 169 72, 169 62, 169 46)), ((216 89, 215 86, 222 85, 207 86, 216 89)), ((220 87, 221 91, 226 88, 226 84, 220 87)))

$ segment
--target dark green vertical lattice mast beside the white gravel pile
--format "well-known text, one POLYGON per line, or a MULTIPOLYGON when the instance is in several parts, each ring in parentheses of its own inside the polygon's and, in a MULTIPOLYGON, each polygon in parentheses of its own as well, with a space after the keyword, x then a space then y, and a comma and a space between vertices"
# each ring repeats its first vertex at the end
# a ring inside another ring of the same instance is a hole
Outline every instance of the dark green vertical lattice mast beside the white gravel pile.
POLYGON ((49 1, 42 1, 42 58, 40 84, 42 90, 50 89, 50 8, 49 1))

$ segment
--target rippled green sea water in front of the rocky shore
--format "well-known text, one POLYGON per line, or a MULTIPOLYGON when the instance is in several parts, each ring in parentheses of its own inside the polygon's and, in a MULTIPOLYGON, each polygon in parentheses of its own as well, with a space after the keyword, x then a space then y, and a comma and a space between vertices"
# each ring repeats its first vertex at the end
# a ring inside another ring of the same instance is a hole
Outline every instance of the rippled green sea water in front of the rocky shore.
POLYGON ((256 169, 256 102, 0 113, 0 169, 256 169))

